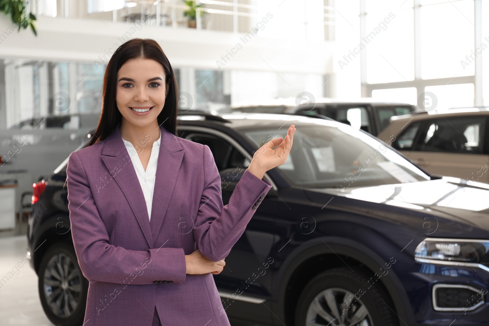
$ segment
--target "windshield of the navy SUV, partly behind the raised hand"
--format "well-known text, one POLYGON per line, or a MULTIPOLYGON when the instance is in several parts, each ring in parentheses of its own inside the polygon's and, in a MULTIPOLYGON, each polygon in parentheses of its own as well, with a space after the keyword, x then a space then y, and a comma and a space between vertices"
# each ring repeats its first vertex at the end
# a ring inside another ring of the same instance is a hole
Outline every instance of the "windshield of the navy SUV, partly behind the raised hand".
MULTIPOLYGON (((293 185, 316 188, 364 187, 429 180, 415 165, 370 135, 334 121, 289 121, 296 132, 279 172, 293 185)), ((258 148, 285 137, 286 128, 241 129, 258 148)))

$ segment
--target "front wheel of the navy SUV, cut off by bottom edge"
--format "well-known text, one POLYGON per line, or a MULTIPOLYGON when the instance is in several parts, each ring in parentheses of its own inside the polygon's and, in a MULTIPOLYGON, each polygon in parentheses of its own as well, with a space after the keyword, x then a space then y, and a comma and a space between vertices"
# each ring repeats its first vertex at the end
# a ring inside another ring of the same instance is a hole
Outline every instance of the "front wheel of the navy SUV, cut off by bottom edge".
POLYGON ((295 326, 397 326, 393 304, 374 279, 349 268, 316 275, 299 296, 295 326))

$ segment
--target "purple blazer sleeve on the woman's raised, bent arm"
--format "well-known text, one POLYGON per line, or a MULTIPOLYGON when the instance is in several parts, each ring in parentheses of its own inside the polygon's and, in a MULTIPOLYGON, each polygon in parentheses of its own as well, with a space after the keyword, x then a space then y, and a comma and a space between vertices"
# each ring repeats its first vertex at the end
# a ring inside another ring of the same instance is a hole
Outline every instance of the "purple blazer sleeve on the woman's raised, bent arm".
POLYGON ((244 233, 261 198, 267 195, 272 185, 265 177, 259 179, 246 169, 229 203, 223 206, 221 176, 207 145, 204 145, 203 171, 204 189, 193 234, 202 256, 210 261, 220 261, 244 233))

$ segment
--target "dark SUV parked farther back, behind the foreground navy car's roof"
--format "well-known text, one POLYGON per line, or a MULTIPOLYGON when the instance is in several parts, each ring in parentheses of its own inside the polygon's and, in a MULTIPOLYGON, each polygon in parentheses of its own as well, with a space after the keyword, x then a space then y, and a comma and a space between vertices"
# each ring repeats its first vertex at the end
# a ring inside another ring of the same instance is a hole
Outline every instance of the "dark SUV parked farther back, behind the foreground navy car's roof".
POLYGON ((310 99, 295 103, 246 105, 229 107, 217 111, 219 115, 244 113, 286 113, 299 115, 319 115, 365 130, 374 136, 378 135, 389 124, 392 116, 425 112, 408 103, 380 102, 364 98, 356 101, 339 101, 335 99, 310 99))

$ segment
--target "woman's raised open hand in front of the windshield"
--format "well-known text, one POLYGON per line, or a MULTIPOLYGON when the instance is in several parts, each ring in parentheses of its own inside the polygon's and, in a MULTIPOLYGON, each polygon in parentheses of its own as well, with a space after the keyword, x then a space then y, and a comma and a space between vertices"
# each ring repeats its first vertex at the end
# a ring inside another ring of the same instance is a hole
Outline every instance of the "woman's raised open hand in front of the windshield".
POLYGON ((294 132, 295 126, 290 125, 285 139, 282 137, 273 138, 260 147, 258 151, 253 154, 253 159, 248 166, 248 171, 255 174, 259 179, 262 179, 265 172, 284 164, 289 156, 290 149, 292 148, 294 132), (272 150, 272 148, 277 145, 280 146, 272 150))

